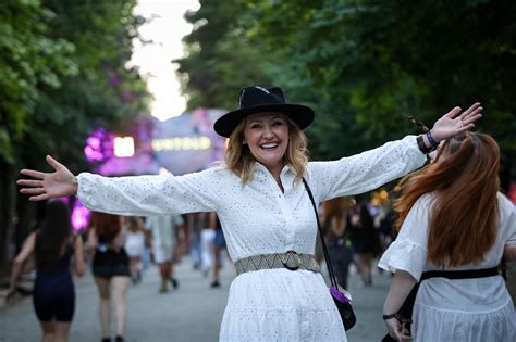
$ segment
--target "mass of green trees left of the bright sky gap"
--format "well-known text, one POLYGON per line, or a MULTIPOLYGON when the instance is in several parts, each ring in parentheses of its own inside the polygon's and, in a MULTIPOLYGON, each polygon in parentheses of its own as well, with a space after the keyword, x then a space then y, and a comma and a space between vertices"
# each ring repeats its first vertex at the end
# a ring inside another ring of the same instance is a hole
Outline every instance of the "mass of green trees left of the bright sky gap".
MULTIPOLYGON (((15 212, 20 167, 48 169, 52 154, 74 172, 95 126, 123 132, 148 112, 137 68, 127 67, 144 23, 136 0, 5 0, 0 5, 0 262, 15 212)), ((34 206, 17 201, 23 238, 34 206)), ((20 242, 20 241, 19 241, 20 242)))

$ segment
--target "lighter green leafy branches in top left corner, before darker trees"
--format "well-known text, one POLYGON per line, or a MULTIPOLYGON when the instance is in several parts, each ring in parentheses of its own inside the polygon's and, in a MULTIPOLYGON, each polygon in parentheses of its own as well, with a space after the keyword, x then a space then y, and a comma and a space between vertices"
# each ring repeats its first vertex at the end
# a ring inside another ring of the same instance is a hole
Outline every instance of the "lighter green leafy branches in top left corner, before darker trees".
POLYGON ((49 36, 54 17, 36 0, 0 7, 0 159, 10 164, 30 125, 38 87, 59 88, 61 77, 77 74, 74 46, 49 36))

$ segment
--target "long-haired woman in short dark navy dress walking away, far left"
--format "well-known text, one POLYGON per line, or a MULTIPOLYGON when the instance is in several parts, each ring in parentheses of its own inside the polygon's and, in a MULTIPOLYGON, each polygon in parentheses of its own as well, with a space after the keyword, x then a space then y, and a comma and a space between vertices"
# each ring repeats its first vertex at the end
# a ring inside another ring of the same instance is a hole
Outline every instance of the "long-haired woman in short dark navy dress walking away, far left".
POLYGON ((41 341, 69 341, 75 312, 71 266, 83 276, 86 265, 83 240, 73 232, 66 203, 60 200, 48 202, 42 224, 27 237, 14 259, 8 299, 16 292, 20 270, 33 253, 36 256, 33 303, 42 330, 41 341))

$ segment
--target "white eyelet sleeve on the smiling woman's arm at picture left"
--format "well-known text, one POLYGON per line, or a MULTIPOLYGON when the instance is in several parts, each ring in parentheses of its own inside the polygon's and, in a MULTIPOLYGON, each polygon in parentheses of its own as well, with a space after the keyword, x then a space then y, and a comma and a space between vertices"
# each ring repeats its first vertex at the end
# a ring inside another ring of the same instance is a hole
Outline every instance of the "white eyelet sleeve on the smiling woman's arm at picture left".
POLYGON ((217 170, 184 176, 78 175, 77 195, 89 210, 120 215, 162 215, 216 210, 217 170))

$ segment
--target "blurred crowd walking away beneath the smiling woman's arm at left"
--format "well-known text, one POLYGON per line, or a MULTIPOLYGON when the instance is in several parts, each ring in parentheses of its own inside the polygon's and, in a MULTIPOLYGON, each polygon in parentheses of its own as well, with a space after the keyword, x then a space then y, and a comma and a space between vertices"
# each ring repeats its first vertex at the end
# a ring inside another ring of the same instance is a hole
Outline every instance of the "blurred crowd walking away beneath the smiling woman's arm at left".
MULTIPOLYGON (((195 217, 202 214, 186 217, 191 227, 198 221, 195 217)), ((214 287, 214 282, 219 287, 220 262, 216 261, 220 258, 223 244, 216 242, 216 230, 220 230, 220 225, 217 225, 214 213, 210 216, 213 219, 214 239, 207 245, 210 250, 202 253, 212 254, 207 256, 207 267, 211 267, 210 274, 213 275, 211 287, 214 287)), ((16 295, 22 271, 30 270, 24 264, 28 264, 30 256, 35 255, 37 277, 33 299, 41 322, 42 341, 69 340, 70 324, 75 312, 72 278, 73 274, 83 276, 87 264, 90 264, 97 286, 102 342, 112 341, 110 320, 113 316, 114 341, 124 341, 127 291, 131 281, 136 286, 143 280, 145 257, 149 257, 159 268, 160 293, 168 292, 169 282, 174 289, 179 287, 173 265, 181 258, 182 251, 184 253, 189 249, 189 243, 182 245, 188 233, 181 215, 139 217, 91 212, 88 221, 84 230, 74 231, 69 204, 61 200, 48 201, 42 221, 26 238, 13 262, 8 301, 16 295)))

